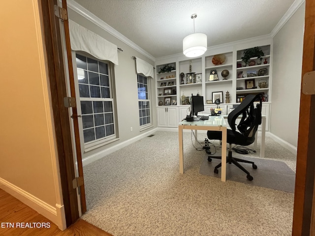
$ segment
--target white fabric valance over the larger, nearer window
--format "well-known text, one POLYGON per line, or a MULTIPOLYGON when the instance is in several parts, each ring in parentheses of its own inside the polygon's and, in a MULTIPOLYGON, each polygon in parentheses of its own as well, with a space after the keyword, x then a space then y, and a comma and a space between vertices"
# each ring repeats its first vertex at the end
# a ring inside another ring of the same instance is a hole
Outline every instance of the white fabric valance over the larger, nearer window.
POLYGON ((72 50, 87 52, 97 59, 109 60, 118 65, 117 45, 71 20, 69 33, 72 50))

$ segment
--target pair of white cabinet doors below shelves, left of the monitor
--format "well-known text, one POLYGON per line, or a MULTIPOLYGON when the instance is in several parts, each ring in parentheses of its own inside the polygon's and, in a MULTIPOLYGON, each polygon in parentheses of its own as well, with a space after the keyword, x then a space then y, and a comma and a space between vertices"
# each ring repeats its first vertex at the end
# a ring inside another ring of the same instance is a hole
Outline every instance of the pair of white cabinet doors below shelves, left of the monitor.
POLYGON ((178 108, 174 106, 157 108, 158 127, 178 127, 178 108))

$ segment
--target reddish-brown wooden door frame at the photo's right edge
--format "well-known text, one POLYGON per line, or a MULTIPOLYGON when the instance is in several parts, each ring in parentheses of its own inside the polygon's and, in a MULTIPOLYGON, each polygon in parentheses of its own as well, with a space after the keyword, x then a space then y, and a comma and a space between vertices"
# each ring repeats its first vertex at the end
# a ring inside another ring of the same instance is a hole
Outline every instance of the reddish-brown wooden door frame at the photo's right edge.
MULTIPOLYGON (((315 70, 315 0, 306 0, 302 77, 315 70)), ((302 92, 293 207, 293 236, 310 235, 315 175, 315 95, 302 92)), ((314 227, 313 227, 314 228, 314 227)), ((314 231, 314 229, 312 230, 314 231)), ((314 232, 313 232, 314 234, 314 232)))

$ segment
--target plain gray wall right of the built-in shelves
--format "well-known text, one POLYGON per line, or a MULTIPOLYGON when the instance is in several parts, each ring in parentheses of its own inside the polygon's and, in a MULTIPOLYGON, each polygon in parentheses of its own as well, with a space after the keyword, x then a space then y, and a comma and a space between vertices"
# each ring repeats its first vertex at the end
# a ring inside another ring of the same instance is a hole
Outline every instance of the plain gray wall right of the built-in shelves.
POLYGON ((274 37, 270 132, 297 147, 305 3, 274 37))

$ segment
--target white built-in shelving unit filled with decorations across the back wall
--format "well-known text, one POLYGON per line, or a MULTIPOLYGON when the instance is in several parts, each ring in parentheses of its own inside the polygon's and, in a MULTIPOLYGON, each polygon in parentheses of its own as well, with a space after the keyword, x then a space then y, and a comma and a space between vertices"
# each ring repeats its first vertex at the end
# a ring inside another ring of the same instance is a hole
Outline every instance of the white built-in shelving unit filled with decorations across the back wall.
MULTIPOLYGON (((225 113, 228 113, 233 105, 239 104, 247 94, 263 93, 265 102, 262 113, 267 116, 268 129, 272 85, 272 45, 269 39, 259 41, 257 44, 254 42, 241 43, 208 50, 199 58, 189 59, 185 56, 175 55, 174 57, 158 59, 156 63, 158 113, 160 117, 168 120, 168 122, 163 123, 171 123, 172 118, 180 121, 185 114, 189 113, 191 94, 203 96, 205 110, 209 110, 211 107, 217 106, 211 103, 213 102, 213 93, 222 92, 220 106, 225 113), (241 59, 244 50, 253 47, 259 47, 264 56, 262 60, 251 58, 245 65, 241 59), (216 65, 213 63, 213 58, 219 54, 224 54, 225 59, 221 64, 216 65), (168 64, 176 67, 176 69, 167 73, 158 73, 160 68, 168 64), (221 74, 223 70, 228 71, 228 76, 225 79, 221 74), (210 78, 213 71, 217 74, 218 80, 210 78), (195 78, 190 77, 194 75, 197 76, 195 78), (169 84, 169 82, 171 83, 169 84), (227 91, 229 93, 228 102, 226 102, 227 91), (174 110, 170 112, 167 109, 169 106, 173 106, 174 110), (163 107, 166 109, 163 110, 163 107), (172 114, 171 117, 170 114, 172 114)), ((169 125, 163 126, 170 127, 169 125)))

